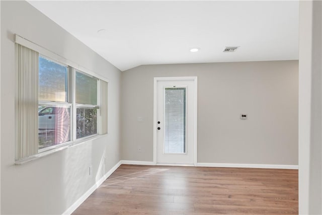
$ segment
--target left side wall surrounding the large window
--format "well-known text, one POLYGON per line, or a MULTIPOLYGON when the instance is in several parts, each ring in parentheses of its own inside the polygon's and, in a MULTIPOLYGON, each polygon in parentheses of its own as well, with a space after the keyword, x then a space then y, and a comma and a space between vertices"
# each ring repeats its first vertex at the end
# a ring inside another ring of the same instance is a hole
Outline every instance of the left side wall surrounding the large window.
POLYGON ((1 1, 1 213, 61 214, 117 164, 120 71, 27 2, 1 1), (14 34, 109 79, 109 134, 15 165, 14 34), (104 156, 106 166, 103 170, 104 156), (89 166, 93 176, 89 177, 89 166))

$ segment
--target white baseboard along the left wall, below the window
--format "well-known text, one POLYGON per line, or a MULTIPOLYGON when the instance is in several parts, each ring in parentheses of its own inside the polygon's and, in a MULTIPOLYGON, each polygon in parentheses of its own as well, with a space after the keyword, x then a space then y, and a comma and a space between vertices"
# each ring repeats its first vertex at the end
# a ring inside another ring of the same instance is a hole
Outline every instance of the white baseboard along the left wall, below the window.
POLYGON ((81 205, 112 173, 121 166, 119 161, 112 169, 110 169, 99 181, 97 181, 88 191, 78 198, 65 212, 62 214, 70 215, 79 205, 81 205))

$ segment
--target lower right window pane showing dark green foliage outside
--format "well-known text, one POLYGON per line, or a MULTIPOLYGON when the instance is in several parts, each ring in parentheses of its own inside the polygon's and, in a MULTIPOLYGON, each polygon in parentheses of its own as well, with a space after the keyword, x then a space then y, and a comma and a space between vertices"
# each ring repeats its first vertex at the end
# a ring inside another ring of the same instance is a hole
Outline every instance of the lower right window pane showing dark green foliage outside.
POLYGON ((76 138, 97 133, 97 109, 76 108, 76 138))

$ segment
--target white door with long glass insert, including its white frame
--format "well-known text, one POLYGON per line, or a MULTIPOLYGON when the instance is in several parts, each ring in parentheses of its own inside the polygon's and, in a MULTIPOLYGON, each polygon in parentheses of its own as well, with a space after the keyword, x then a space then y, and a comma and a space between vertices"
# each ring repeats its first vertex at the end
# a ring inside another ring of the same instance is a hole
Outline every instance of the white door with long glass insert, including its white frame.
POLYGON ((154 85, 156 164, 195 165, 197 78, 155 78, 154 85))

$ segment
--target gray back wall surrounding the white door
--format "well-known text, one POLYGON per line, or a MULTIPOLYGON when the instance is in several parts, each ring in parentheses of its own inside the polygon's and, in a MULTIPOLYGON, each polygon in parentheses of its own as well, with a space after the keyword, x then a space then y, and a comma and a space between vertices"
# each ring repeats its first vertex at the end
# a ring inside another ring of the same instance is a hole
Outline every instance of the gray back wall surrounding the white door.
POLYGON ((298 165, 298 61, 143 65, 123 71, 123 160, 153 160, 153 77, 175 76, 198 77, 198 163, 298 165), (240 113, 249 118, 240 120, 240 113), (138 116, 144 121, 137 122, 138 116))

